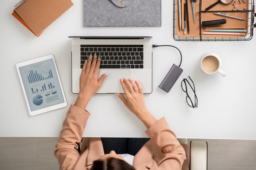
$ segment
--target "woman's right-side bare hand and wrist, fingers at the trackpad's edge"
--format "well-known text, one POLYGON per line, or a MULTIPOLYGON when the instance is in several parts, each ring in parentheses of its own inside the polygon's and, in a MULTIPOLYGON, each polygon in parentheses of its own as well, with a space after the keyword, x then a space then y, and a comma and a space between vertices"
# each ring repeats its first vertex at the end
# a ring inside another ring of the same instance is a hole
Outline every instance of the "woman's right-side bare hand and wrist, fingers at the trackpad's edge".
POLYGON ((126 98, 123 94, 116 93, 117 96, 123 101, 124 105, 134 113, 147 128, 151 127, 155 122, 155 117, 147 110, 142 87, 139 81, 131 80, 130 78, 120 80, 126 98))

